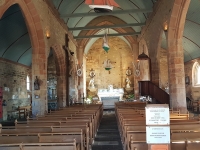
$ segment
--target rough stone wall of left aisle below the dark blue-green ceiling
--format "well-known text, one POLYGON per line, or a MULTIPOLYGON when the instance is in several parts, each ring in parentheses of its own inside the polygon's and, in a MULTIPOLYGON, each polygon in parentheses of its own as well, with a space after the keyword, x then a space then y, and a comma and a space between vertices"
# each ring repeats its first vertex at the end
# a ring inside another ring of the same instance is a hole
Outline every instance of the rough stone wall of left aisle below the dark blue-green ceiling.
POLYGON ((4 89, 3 100, 7 105, 3 109, 4 120, 7 119, 7 111, 31 104, 30 96, 28 96, 30 93, 26 85, 27 75, 31 75, 31 68, 0 59, 0 87, 4 89))

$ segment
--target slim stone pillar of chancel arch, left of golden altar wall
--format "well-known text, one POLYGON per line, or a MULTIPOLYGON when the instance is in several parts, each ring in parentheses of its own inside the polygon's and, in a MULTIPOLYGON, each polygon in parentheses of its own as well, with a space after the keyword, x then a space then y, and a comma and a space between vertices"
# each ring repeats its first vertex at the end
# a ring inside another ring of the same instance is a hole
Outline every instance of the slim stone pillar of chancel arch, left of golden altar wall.
MULTIPOLYGON (((78 76, 78 101, 82 102, 82 97, 83 97, 83 46, 79 46, 77 50, 77 59, 78 59, 78 66, 77 69, 82 70, 82 75, 78 76)), ((85 95, 85 93, 84 93, 85 95)))

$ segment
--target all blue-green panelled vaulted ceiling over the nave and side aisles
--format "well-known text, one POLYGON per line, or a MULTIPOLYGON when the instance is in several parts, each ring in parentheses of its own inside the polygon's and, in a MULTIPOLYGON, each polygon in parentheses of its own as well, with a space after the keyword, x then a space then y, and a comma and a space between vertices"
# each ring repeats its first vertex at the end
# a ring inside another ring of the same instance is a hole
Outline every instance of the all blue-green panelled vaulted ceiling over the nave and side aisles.
MULTIPOLYGON (((49 0, 53 3, 55 8, 60 14, 60 17, 65 21, 66 25, 71 29, 75 38, 78 38, 81 33, 78 27, 84 27, 98 16, 87 16, 85 13, 94 13, 92 9, 84 3, 84 0, 49 0), (79 16, 74 16, 79 13, 79 16), (76 28, 76 30, 73 30, 76 28)), ((141 31, 140 25, 134 26, 136 23, 144 23, 148 18, 150 11, 156 0, 115 0, 120 8, 114 8, 114 11, 121 11, 122 13, 112 14, 115 18, 119 18, 122 22, 129 25, 134 32, 141 31), (139 10, 139 12, 124 13, 127 10, 139 10)), ((200 1, 191 0, 191 4, 187 13, 184 36, 183 48, 185 62, 200 57, 200 1)), ((112 22, 112 20, 108 20, 112 22)), ((116 27, 115 27, 116 28, 116 27)), ((110 29, 110 34, 117 34, 115 28, 110 29)), ((87 29, 88 30, 88 29, 87 29)), ((97 35, 103 34, 104 29, 97 29, 97 35)), ((136 37, 135 35, 133 35, 136 37)), ((98 39, 91 38, 86 46, 90 46, 98 39)), ((128 41, 120 36, 124 41, 128 41)), ((167 49, 165 36, 163 36, 162 47, 167 49)), ((11 6, 0 19, 0 57, 12 60, 31 66, 32 46, 28 34, 28 30, 17 4, 11 6)))

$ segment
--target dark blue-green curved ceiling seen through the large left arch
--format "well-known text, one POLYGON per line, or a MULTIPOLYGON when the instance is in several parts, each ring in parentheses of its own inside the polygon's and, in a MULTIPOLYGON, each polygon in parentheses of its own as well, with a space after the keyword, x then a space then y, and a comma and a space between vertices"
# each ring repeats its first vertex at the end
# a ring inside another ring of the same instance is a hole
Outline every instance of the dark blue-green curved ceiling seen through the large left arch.
POLYGON ((30 66, 32 48, 28 30, 19 5, 14 4, 0 19, 0 57, 30 66), (23 55, 30 48, 29 55, 23 55), (25 61, 23 61, 25 60, 25 61))

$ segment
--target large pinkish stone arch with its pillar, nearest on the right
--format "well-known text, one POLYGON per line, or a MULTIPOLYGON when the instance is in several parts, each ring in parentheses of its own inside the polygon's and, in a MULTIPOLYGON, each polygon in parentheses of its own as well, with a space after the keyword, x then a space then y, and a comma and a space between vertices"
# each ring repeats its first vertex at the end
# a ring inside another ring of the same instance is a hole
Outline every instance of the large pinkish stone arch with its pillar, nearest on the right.
POLYGON ((189 4, 190 0, 174 1, 167 37, 170 104, 182 112, 187 111, 182 37, 189 4))

